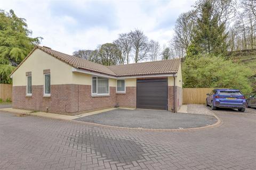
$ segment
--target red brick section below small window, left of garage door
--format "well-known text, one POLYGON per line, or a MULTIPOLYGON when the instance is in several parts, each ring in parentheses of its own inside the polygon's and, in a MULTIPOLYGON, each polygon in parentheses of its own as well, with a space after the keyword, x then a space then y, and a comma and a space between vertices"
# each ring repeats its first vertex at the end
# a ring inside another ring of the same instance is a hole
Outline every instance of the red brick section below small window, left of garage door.
POLYGON ((116 94, 116 103, 119 107, 136 108, 136 87, 126 87, 125 94, 116 94))

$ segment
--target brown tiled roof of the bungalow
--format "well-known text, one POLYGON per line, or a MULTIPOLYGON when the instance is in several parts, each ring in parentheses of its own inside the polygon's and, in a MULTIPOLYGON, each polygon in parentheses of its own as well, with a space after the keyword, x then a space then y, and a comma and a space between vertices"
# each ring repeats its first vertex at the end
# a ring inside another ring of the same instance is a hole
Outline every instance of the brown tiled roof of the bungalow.
MULTIPOLYGON (((78 58, 78 57, 75 57, 72 55, 57 52, 57 51, 55 51, 49 47, 45 47, 45 46, 43 46, 43 47, 36 46, 32 50, 32 52, 29 53, 29 55, 31 53, 33 53, 34 50, 37 48, 41 49, 43 52, 45 52, 55 58, 58 58, 59 60, 61 60, 63 62, 75 67, 76 69, 84 69, 84 70, 99 72, 99 73, 118 76, 118 77, 134 76, 134 75, 177 73, 178 69, 179 69, 179 64, 180 64, 179 59, 173 59, 173 60, 162 60, 162 61, 155 61, 155 62, 105 66, 105 65, 97 64, 97 63, 90 62, 87 60, 83 60, 82 58, 78 58)), ((29 55, 25 58, 25 60, 29 57, 29 55)), ((20 63, 20 65, 25 60, 23 60, 20 63)), ((18 67, 15 70, 17 70, 18 67)), ((12 75, 12 73, 11 73, 11 75, 12 75)))

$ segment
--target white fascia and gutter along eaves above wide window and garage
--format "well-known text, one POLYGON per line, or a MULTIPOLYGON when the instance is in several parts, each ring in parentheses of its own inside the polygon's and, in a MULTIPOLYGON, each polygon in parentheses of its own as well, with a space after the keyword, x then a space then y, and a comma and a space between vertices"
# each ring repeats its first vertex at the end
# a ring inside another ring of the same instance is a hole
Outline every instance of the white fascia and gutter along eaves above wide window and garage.
POLYGON ((83 70, 83 69, 76 69, 74 67, 72 67, 72 72, 85 73, 85 74, 95 75, 95 76, 104 77, 104 78, 113 78, 113 79, 177 77, 177 74, 151 74, 151 75, 134 75, 134 76, 116 77, 116 76, 113 76, 113 75, 98 73, 98 72, 94 72, 94 71, 83 70))

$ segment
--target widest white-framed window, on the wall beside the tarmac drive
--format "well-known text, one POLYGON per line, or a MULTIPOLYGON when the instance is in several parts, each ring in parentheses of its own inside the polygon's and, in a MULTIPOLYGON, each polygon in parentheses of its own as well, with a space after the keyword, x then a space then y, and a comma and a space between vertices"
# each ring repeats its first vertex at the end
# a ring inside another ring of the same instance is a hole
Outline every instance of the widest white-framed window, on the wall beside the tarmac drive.
POLYGON ((92 95, 109 95, 108 78, 92 77, 92 95))

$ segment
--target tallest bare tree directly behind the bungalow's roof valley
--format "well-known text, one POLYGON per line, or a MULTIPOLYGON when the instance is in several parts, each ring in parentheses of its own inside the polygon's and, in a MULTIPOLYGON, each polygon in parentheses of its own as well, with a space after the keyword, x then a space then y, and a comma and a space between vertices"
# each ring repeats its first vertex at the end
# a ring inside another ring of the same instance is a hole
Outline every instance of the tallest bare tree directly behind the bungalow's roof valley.
POLYGON ((145 60, 149 52, 148 38, 138 29, 131 31, 129 38, 134 50, 134 62, 138 63, 141 60, 145 60))

